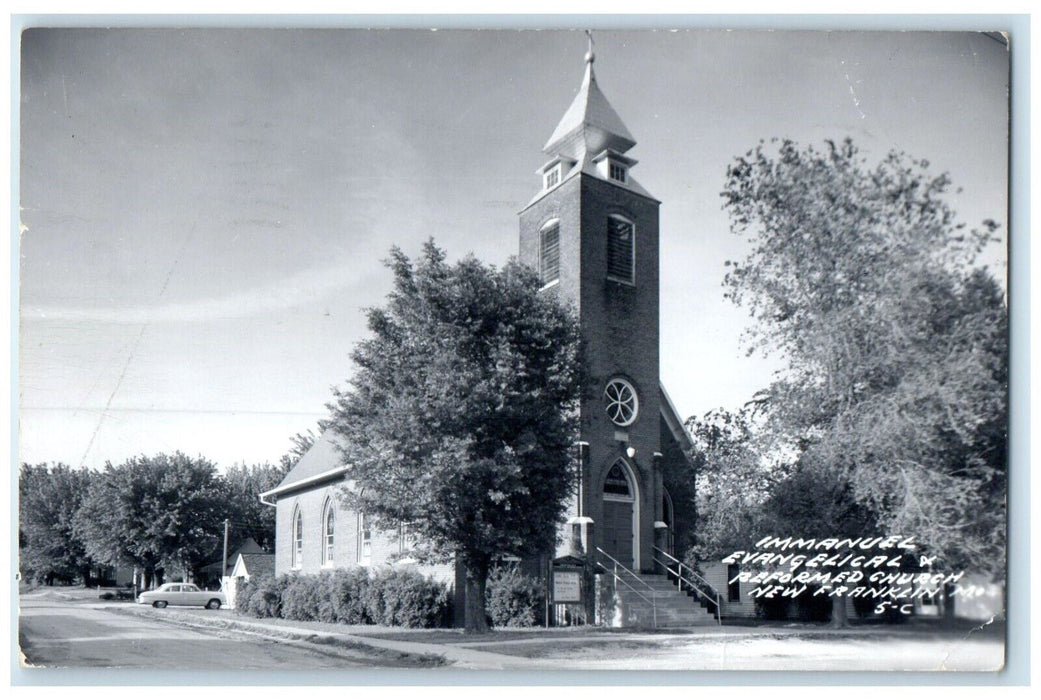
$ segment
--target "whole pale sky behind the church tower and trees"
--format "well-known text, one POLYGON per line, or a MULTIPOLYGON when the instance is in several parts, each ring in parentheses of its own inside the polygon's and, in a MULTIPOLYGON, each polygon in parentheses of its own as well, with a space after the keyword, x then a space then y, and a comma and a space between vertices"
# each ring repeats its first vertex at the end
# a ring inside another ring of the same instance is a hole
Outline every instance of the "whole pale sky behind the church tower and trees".
MULTIPOLYGON (((722 299, 718 196, 759 139, 852 135, 1007 209, 1008 57, 980 34, 611 32, 602 90, 661 207, 662 379, 683 417, 771 365, 722 299)), ((379 260, 433 235, 502 264, 581 32, 44 30, 23 35, 20 456, 275 460, 325 415, 382 303, 379 260)), ((1004 249, 988 261, 1005 273, 1004 249)))

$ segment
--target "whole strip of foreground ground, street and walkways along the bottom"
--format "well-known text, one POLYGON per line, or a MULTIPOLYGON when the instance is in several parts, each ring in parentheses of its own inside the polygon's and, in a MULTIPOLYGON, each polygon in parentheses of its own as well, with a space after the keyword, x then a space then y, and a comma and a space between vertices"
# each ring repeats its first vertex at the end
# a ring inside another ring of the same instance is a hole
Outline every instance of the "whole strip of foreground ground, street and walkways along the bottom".
POLYGON ((669 632, 554 628, 403 630, 229 610, 103 603, 93 591, 21 597, 26 662, 50 668, 297 671, 431 668, 684 671, 996 671, 1004 630, 930 625, 830 630, 810 626, 704 627, 669 632))

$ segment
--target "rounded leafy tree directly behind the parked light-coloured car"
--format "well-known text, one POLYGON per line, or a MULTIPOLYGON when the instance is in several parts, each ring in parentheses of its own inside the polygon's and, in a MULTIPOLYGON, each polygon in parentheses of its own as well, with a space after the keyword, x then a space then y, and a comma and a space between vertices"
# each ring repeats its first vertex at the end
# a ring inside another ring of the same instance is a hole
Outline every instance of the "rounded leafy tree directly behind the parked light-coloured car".
POLYGON ((134 566, 188 578, 206 564, 223 532, 227 493, 208 460, 173 455, 134 457, 96 475, 75 529, 87 553, 111 566, 134 566))

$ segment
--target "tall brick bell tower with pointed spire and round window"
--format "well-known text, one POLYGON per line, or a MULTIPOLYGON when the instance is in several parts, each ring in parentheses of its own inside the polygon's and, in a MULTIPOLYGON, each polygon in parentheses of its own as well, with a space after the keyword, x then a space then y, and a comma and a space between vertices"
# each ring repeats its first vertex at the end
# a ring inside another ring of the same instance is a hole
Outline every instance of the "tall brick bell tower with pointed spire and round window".
POLYGON ((650 571, 665 517, 659 201, 633 178, 636 141, 601 92, 593 61, 590 41, 578 95, 542 148, 538 194, 520 211, 520 259, 538 271, 542 294, 574 305, 585 343, 572 523, 602 562, 650 571))

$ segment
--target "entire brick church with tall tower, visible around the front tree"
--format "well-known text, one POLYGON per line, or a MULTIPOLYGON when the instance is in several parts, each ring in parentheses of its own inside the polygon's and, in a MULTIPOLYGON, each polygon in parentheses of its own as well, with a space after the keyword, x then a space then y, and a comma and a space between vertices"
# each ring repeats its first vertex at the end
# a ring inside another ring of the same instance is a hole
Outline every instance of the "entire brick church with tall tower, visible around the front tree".
MULTIPOLYGON (((539 191, 519 215, 519 257, 537 269, 542 294, 578 310, 595 384, 581 404, 578 497, 556 554, 581 538, 602 570, 635 579, 662 571, 667 555, 682 558, 693 528, 692 474, 689 439, 659 379, 660 202, 633 177, 636 142, 601 92, 593 59, 590 46, 578 95, 542 149, 539 191)), ((276 572, 417 566, 407 532, 378 532, 337 503, 346 468, 333 441, 323 434, 261 496, 277 508, 276 572)), ((456 577, 451 565, 421 571, 456 577)))

